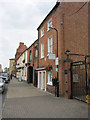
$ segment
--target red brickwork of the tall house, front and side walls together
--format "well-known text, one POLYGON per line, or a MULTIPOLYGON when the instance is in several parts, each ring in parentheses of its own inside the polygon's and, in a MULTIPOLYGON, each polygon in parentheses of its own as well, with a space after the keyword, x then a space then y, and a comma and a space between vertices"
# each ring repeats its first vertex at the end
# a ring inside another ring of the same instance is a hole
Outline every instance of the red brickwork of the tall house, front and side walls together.
MULTIPOLYGON (((88 54, 88 4, 86 4, 79 12, 77 11, 84 3, 62 3, 59 7, 53 11, 44 23, 39 28, 39 67, 46 67, 47 65, 53 66, 53 77, 56 76, 55 60, 48 60, 48 37, 53 36, 53 53, 56 53, 56 32, 50 30, 47 32, 47 22, 52 17, 53 27, 58 30, 58 51, 59 51, 59 85, 60 94, 65 93, 65 74, 66 68, 63 60, 66 59, 65 51, 69 49, 71 53, 88 54), (63 17, 64 14, 64 17, 63 17), (64 20, 64 26, 61 23, 64 20), (40 38, 41 28, 44 26, 44 36, 40 38), (41 43, 44 42, 44 58, 41 59, 41 43)), ((71 56, 74 61, 83 60, 83 57, 71 56)), ((69 68, 68 68, 69 69, 69 68)), ((46 75, 47 77, 47 75, 46 75)), ((47 79, 48 80, 48 79, 47 79)), ((54 87, 47 86, 51 91, 54 91, 54 87)))

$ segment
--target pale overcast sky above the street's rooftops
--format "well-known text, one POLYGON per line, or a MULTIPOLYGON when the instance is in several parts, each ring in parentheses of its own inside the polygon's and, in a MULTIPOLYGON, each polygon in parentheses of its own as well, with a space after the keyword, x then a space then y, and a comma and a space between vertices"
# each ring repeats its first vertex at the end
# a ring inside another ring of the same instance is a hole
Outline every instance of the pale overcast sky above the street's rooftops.
POLYGON ((9 67, 19 42, 29 47, 37 28, 57 0, 0 0, 0 64, 9 67))

